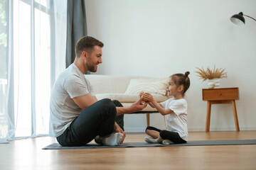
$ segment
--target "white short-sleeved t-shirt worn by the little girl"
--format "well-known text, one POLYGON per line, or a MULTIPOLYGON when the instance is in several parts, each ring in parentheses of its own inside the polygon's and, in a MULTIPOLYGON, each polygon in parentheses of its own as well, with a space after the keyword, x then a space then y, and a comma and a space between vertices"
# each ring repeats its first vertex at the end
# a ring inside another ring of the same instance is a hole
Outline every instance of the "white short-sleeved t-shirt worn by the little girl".
POLYGON ((171 109, 174 113, 165 115, 167 130, 171 132, 178 132, 178 135, 183 140, 188 141, 188 127, 186 123, 186 116, 188 105, 184 98, 175 100, 170 98, 167 101, 161 102, 164 109, 171 109))

